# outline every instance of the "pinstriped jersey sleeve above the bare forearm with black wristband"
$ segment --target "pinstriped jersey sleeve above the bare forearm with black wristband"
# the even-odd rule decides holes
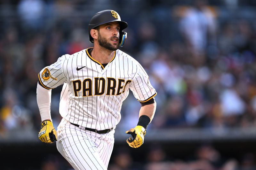
[[[130,89],[134,97],[142,103],[147,102],[157,94],[149,82],[148,74],[140,64],[138,64],[137,72],[132,78]]]

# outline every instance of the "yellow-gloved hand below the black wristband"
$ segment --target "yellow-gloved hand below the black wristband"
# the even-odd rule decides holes
[[[136,126],[130,130],[127,130],[125,133],[131,134],[132,137],[129,137],[126,142],[132,148],[140,147],[144,142],[144,136],[146,135],[146,130],[142,126]]]

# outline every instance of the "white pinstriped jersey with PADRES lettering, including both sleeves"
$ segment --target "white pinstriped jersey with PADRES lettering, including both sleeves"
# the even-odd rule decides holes
[[[40,71],[39,83],[46,89],[64,84],[60,115],[69,122],[92,129],[109,129],[121,119],[122,102],[129,88],[140,102],[152,99],[156,91],[146,71],[130,55],[116,50],[104,68],[88,49],[62,55],[56,63]]]

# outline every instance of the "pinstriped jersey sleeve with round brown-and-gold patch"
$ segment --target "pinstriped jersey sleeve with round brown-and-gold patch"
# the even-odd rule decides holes
[[[63,55],[58,58],[57,62],[50,66],[44,67],[38,74],[38,83],[46,89],[54,89],[67,81],[63,74],[62,65],[66,57]]]

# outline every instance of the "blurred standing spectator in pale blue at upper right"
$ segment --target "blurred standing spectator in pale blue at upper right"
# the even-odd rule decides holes
[[[180,31],[188,48],[196,54],[204,53],[207,46],[216,41],[216,20],[206,5],[205,0],[195,0],[194,6],[186,11],[180,21]]]

